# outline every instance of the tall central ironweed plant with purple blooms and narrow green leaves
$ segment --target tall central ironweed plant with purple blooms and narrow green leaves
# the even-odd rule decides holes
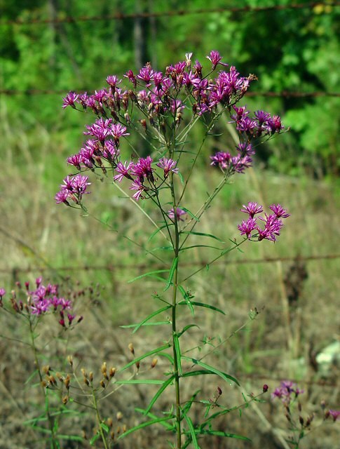
[[[84,135],[88,136],[88,140],[81,150],[67,159],[80,173],[67,176],[55,195],[57,203],[88,213],[84,199],[90,182],[88,175],[83,173],[97,173],[99,170],[102,175],[111,177],[119,192],[124,193],[126,189],[131,191],[130,196],[137,208],[147,215],[155,228],[149,236],[149,242],[157,234],[161,234],[163,238],[161,246],[156,246],[147,253],[157,257],[164,268],[139,276],[150,276],[163,283],[162,293],[154,295],[161,307],[136,325],[134,332],[155,317],[169,314],[169,337],[161,347],[135,358],[132,363],[140,363],[147,356],[157,355],[166,358],[170,369],[161,382],[140,380],[141,383],[154,382],[161,386],[151,398],[149,406],[142,410],[149,421],[128,429],[124,436],[136,429],[159,423],[175,434],[176,443],[172,445],[177,449],[189,445],[199,448],[200,436],[207,434],[243,438],[212,427],[216,417],[231,411],[219,406],[217,412],[211,413],[211,409],[217,407],[217,400],[222,394],[221,387],[218,387],[214,399],[208,403],[200,401],[207,408],[200,423],[193,422],[191,417],[191,407],[199,401],[198,391],[189,398],[183,397],[182,385],[189,377],[217,375],[223,382],[237,385],[238,380],[205,363],[203,357],[189,356],[188,348],[182,344],[184,335],[196,326],[191,322],[183,327],[178,326],[178,317],[183,307],[188,307],[192,316],[198,307],[224,314],[224,311],[212,304],[194,300],[186,282],[205,267],[182,274],[182,256],[196,248],[211,248],[217,255],[206,265],[208,268],[247,240],[275,242],[283,227],[283,220],[289,216],[280,204],[269,206],[271,213],[267,214],[264,213],[263,206],[250,201],[240,209],[247,215],[247,219],[238,226],[240,236],[243,236],[240,241],[235,239],[226,242],[224,236],[221,238],[198,230],[203,214],[212,206],[217,194],[230,178],[245,173],[252,165],[252,156],[258,143],[280,134],[284,127],[279,116],[271,116],[262,110],[251,113],[245,106],[238,107],[238,102],[247,93],[256,76],[241,76],[235,67],[227,68],[228,65],[222,62],[217,51],[211,51],[208,55],[210,67],[205,74],[200,62],[193,62],[191,58],[192,53],[186,53],[185,60],[166,67],[165,72],[154,70],[149,63],[137,74],[129,70],[124,76],[128,87],[123,87],[123,79],[110,75],[106,80],[107,88],[96,91],[93,95],[70,92],[63,99],[64,108],[90,111],[97,118],[93,124],[86,126]],[[213,192],[201,204],[198,203],[196,210],[189,210],[185,198],[186,191],[191,188],[193,171],[215,124],[219,120],[226,120],[226,115],[236,127],[238,145],[234,152],[217,152],[210,156],[210,165],[219,168],[221,180]],[[191,131],[198,121],[203,123],[205,133],[200,144],[193,145],[190,141]],[[142,157],[132,143],[132,156],[128,157],[121,151],[121,140],[128,140],[132,133],[139,133],[149,146],[147,156]],[[156,208],[156,220],[154,214],[151,216],[143,207],[145,201],[151,202]],[[200,243],[197,243],[197,237],[200,238]],[[166,253],[170,257],[166,257]],[[155,415],[153,408],[156,401],[171,387],[173,404],[161,415]],[[105,441],[103,429],[100,429],[100,436]],[[105,447],[108,447],[107,444],[104,443]]]

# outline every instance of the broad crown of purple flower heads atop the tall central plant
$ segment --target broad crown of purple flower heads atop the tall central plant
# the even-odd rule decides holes
[[[250,112],[245,107],[236,107],[256,77],[241,76],[235,67],[227,67],[218,51],[211,51],[207,56],[211,68],[205,76],[200,62],[191,61],[192,53],[186,53],[185,57],[185,60],[166,67],[164,72],[154,70],[150,63],[136,74],[129,70],[124,75],[131,84],[128,88],[123,87],[122,79],[109,75],[107,88],[92,95],[70,92],[63,98],[63,108],[70,106],[91,110],[97,116],[95,123],[86,126],[84,135],[88,136],[88,140],[77,154],[69,156],[67,162],[79,171],[100,168],[107,173],[108,169],[112,170],[115,181],[121,182],[123,177],[132,181],[130,189],[135,191],[133,197],[136,200],[147,198],[163,185],[170,172],[178,173],[177,161],[164,155],[155,161],[155,165],[163,169],[160,184],[156,185],[151,156],[140,158],[137,162],[121,160],[120,139],[130,135],[128,127],[140,123],[143,132],[149,133],[151,126],[156,129],[157,135],[167,140],[169,130],[182,123],[184,112],[191,114],[189,119],[192,114],[210,114],[217,119],[220,116],[220,108],[217,107],[222,106],[229,110],[233,107],[231,118],[240,133],[240,144],[236,147],[236,156],[218,152],[211,156],[211,164],[219,166],[228,175],[244,173],[252,165],[254,149],[251,140],[261,135],[280,133],[283,129],[280,117],[256,111],[250,118]],[[208,79],[217,67],[221,69],[215,78]],[[136,112],[142,114],[142,118],[135,118]],[[173,157],[173,154],[170,156]],[[85,192],[89,184],[87,181],[87,177],[81,175],[65,178],[55,200],[57,203],[69,204],[69,200],[80,203],[82,195],[88,193]]]

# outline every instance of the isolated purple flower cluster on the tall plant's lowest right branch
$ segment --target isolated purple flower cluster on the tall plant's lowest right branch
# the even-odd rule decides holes
[[[247,236],[247,239],[252,239],[257,237],[259,241],[267,239],[270,241],[276,241],[276,236],[280,235],[280,229],[283,227],[282,218],[287,218],[290,216],[280,204],[271,204],[269,209],[273,211],[272,214],[264,214],[264,217],[256,217],[255,215],[263,212],[263,207],[259,206],[257,203],[248,203],[247,206],[243,204],[243,208],[240,209],[241,212],[247,213],[249,215],[248,219],[238,225],[240,235]],[[257,224],[257,218],[264,222],[264,227],[261,228]],[[255,231],[256,234],[252,235]]]

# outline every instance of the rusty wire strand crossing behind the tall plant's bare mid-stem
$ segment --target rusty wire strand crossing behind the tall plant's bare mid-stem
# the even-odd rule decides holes
[[[243,259],[243,260],[224,260],[220,262],[215,262],[216,265],[229,264],[229,265],[239,265],[239,264],[263,264],[263,263],[273,263],[273,262],[311,262],[313,260],[335,260],[340,259],[340,254],[325,254],[325,255],[307,255],[307,256],[287,256],[287,257],[263,257],[261,259]],[[208,260],[201,260],[199,262],[182,262],[182,267],[205,267],[209,264]],[[87,272],[87,271],[98,271],[103,270],[107,272],[115,272],[117,270],[143,270],[152,267],[155,269],[159,267],[158,264],[100,264],[100,265],[81,265],[81,266],[64,266],[64,267],[12,267],[12,268],[0,268],[0,273],[31,273],[31,272]]]

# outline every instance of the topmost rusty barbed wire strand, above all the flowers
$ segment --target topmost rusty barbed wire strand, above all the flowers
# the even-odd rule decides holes
[[[141,12],[141,13],[115,13],[107,15],[93,15],[93,16],[79,16],[79,17],[61,17],[53,19],[10,19],[0,20],[0,25],[46,25],[50,23],[76,23],[76,22],[92,22],[103,20],[125,20],[125,19],[138,19],[138,18],[163,18],[163,17],[175,17],[184,15],[196,15],[196,14],[211,14],[211,13],[261,13],[266,11],[284,11],[284,10],[297,10],[297,9],[311,9],[318,7],[318,14],[329,13],[329,8],[340,6],[340,1],[332,1],[322,3],[320,1],[312,1],[308,4],[290,4],[290,5],[273,5],[273,6],[224,6],[220,8],[200,8],[193,11],[179,9],[177,11],[159,11],[159,12]],[[322,8],[322,9],[320,9]]]

